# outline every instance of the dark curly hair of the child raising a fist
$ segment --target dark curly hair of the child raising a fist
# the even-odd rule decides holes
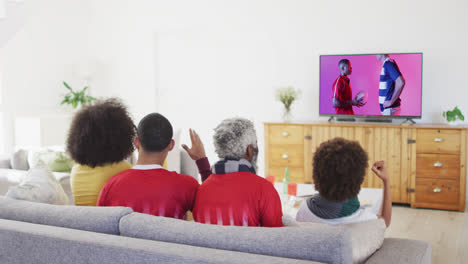
[[[329,200],[356,197],[368,167],[367,153],[357,141],[334,138],[323,142],[313,158],[315,189]]]

